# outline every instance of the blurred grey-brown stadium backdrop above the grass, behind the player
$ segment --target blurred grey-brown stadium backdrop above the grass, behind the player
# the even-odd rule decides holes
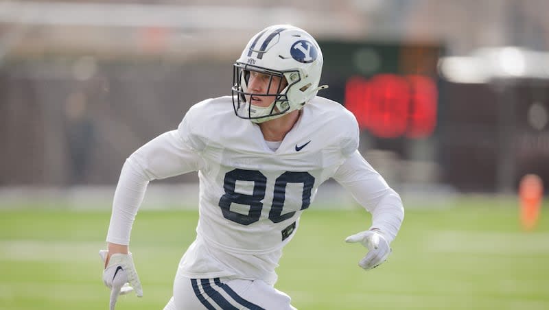
[[[275,23],[325,45],[325,95],[343,104],[351,78],[373,87],[383,75],[370,107],[381,115],[410,100],[386,93],[402,77],[434,83],[431,131],[364,126],[361,150],[397,189],[513,193],[527,173],[549,183],[548,1],[230,2],[1,2],[0,187],[114,190],[133,150],[230,94],[233,61]]]

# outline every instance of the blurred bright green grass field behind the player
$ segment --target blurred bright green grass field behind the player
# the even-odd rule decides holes
[[[405,201],[406,204],[406,201]],[[365,250],[343,242],[369,226],[360,208],[315,210],[284,250],[277,288],[298,309],[549,309],[549,211],[523,232],[515,200],[460,198],[443,209],[408,208],[393,254],[357,266]],[[102,263],[110,211],[0,211],[0,309],[107,309]],[[117,309],[163,309],[195,211],[139,213],[132,252],[144,296]]]

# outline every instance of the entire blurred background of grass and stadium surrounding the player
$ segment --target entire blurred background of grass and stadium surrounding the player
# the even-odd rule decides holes
[[[97,250],[124,160],[230,95],[244,45],[281,23],[317,38],[319,95],[355,114],[406,219],[390,261],[364,274],[364,249],[343,239],[368,215],[326,182],[277,288],[299,309],[549,309],[549,205],[517,195],[526,174],[549,183],[548,12],[546,0],[0,0],[0,309],[106,309]],[[145,297],[117,309],[170,298],[197,180],[150,184],[132,230]]]

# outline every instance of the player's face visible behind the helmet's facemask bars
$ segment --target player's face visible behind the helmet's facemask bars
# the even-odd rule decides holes
[[[274,102],[276,94],[280,93],[288,85],[285,78],[276,75],[268,75],[256,71],[250,71],[248,79],[248,92],[258,95],[272,94],[272,96],[246,95],[246,101],[254,106],[266,107]]]

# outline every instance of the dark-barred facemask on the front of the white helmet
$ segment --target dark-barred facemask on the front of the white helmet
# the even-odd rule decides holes
[[[233,108],[238,117],[250,119],[254,123],[263,123],[264,121],[276,119],[290,112],[291,106],[288,102],[287,92],[293,84],[299,82],[299,78],[296,78],[296,76],[299,76],[299,72],[273,71],[238,62],[234,64],[233,68]],[[265,93],[253,93],[248,90],[251,71],[269,77]],[[288,84],[287,82],[290,76],[294,79],[292,84]],[[275,80],[278,80],[278,82]],[[274,100],[268,106],[257,106],[253,104],[253,97],[274,97]]]

